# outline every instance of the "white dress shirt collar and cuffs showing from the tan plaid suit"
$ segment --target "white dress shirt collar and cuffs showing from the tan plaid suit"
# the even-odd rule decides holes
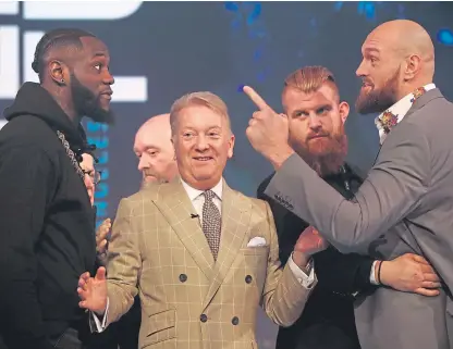
[[[203,223],[203,204],[205,203],[205,195],[204,195],[205,191],[191,187],[187,183],[185,183],[182,179],[181,179],[181,183],[185,191],[187,192],[187,196],[192,204],[194,205],[194,209],[197,212],[199,220],[200,220],[200,224],[201,224]],[[212,199],[212,202],[219,209],[220,215],[222,214],[222,189],[223,189],[223,178],[221,178],[220,182],[211,189],[216,194],[216,197]],[[220,248],[222,248],[221,245],[220,245]],[[293,255],[291,255],[291,258],[287,260],[287,263],[294,276],[296,277],[297,282],[299,282],[303,287],[310,288],[313,283],[315,282],[315,267],[311,267],[310,274],[307,276],[297,266],[297,264],[294,263]],[[94,327],[96,332],[101,333],[102,331],[106,329],[108,312],[109,312],[109,299],[107,299],[107,308],[106,308],[106,312],[103,314],[102,321],[100,321],[99,317],[95,313],[91,312],[93,316],[90,317],[94,321]]]

